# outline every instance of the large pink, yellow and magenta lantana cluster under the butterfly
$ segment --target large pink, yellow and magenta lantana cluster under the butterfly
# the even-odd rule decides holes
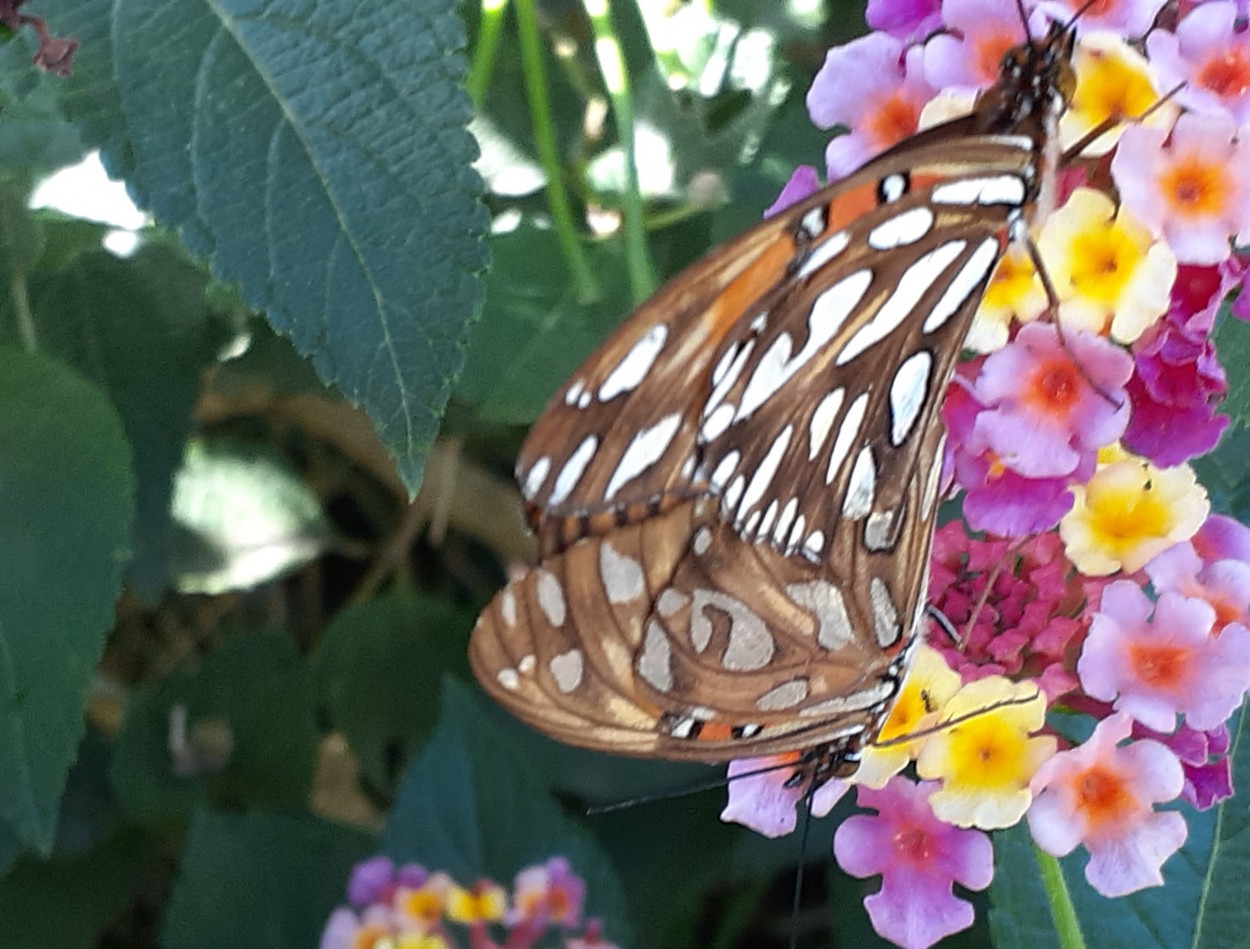
[[[1216,315],[1231,300],[1250,316],[1250,30],[1231,0],[1076,6],[1025,0],[1031,36],[1075,24],[1059,131],[1079,154],[1032,221],[1052,290],[1014,246],[948,390],[962,519],[936,534],[929,593],[950,628],[931,624],[856,774],[810,801],[825,813],[855,788],[866,813],[834,854],[881,876],[865,905],[902,946],[971,925],[952,884],[990,884],[988,831],[1025,820],[1055,856],[1081,846],[1089,884],[1119,896],[1162,884],[1185,841],[1182,811],[1160,805],[1232,793],[1250,529],[1211,514],[1188,461],[1228,425]],[[830,180],[971,108],[1024,34],[1008,0],[870,0],[868,20],[878,31],[830,51],[808,95],[818,126],[848,129]],[[798,170],[776,206],[818,178]],[[722,816],[791,830],[805,790],[789,776],[731,781]]]

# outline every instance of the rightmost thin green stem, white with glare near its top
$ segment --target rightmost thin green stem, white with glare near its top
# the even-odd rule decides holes
[[[638,151],[634,141],[634,95],[630,91],[629,73],[616,39],[608,0],[582,0],[590,28],[595,34],[595,58],[604,86],[612,100],[616,116],[616,134],[625,153],[625,265],[629,270],[634,303],[641,303],[655,291],[655,266],[646,244],[646,221],[642,193],[638,184]]]

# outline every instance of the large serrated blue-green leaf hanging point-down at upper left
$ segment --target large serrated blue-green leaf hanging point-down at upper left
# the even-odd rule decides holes
[[[485,268],[451,0],[49,0],[78,36],[64,108],[176,228],[364,405],[410,489]]]

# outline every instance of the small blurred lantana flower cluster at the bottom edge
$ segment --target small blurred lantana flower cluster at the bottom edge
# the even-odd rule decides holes
[[[374,856],[352,869],[349,905],[330,914],[320,949],[618,949],[599,920],[582,924],[585,893],[562,856],[518,873],[511,895],[492,880],[461,886]]]

